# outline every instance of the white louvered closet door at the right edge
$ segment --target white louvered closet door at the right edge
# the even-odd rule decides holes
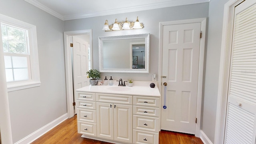
[[[226,144],[255,144],[256,139],[256,1],[235,8]]]

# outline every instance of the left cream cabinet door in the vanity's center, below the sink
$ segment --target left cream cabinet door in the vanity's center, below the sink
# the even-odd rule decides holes
[[[114,106],[110,103],[96,102],[97,136],[114,140]]]

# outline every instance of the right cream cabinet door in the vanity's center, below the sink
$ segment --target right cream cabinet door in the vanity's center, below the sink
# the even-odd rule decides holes
[[[114,104],[114,140],[132,143],[132,106]]]

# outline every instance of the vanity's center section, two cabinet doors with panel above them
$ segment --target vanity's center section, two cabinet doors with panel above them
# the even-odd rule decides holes
[[[96,94],[96,99],[97,136],[132,143],[132,96]]]

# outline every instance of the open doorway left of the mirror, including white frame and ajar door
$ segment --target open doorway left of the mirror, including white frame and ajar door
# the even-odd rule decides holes
[[[73,47],[72,47],[73,45]],[[86,46],[85,46],[86,45]],[[75,48],[78,47],[78,48]],[[75,89],[86,86],[86,80],[77,82],[77,80],[82,79],[79,76],[76,76],[76,72],[86,73],[92,66],[92,30],[78,30],[78,31],[69,31],[64,32],[64,49],[65,49],[65,67],[66,67],[66,94],[67,94],[67,110],[68,117],[71,118],[74,116],[75,107]],[[75,52],[73,53],[73,51]],[[84,50],[81,50],[84,49]],[[80,50],[77,53],[77,50]],[[82,54],[83,51],[86,51],[86,54]],[[74,57],[76,57],[74,59]],[[80,57],[77,59],[77,57]],[[84,61],[86,58],[86,61]],[[79,63],[78,63],[79,62]],[[82,66],[79,68],[74,68],[76,66]],[[78,72],[78,73],[80,73]],[[80,74],[85,75],[85,74]],[[85,85],[84,85],[85,84]]]

